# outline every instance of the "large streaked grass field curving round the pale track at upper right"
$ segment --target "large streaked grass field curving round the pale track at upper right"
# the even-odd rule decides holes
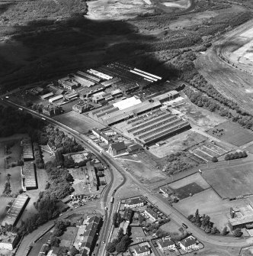
[[[226,41],[230,42],[233,37],[237,37],[238,34],[251,29],[252,26],[253,21],[251,20],[223,35],[219,41],[213,44],[212,48],[200,55],[195,61],[200,73],[223,96],[237,102],[242,109],[251,113],[253,109],[252,76],[221,60],[218,52]]]

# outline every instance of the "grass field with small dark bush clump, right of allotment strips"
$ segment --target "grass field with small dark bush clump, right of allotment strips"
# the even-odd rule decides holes
[[[223,129],[224,131],[222,134],[213,134],[213,131],[216,131],[217,129]],[[207,133],[222,141],[234,144],[235,146],[242,146],[253,141],[253,133],[250,130],[242,128],[233,122],[224,122],[223,124],[210,129]]]

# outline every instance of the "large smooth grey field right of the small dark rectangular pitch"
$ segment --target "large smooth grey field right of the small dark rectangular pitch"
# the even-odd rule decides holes
[[[203,170],[203,178],[223,199],[253,194],[251,162],[233,160],[231,165],[229,162],[220,164],[213,169]]]

